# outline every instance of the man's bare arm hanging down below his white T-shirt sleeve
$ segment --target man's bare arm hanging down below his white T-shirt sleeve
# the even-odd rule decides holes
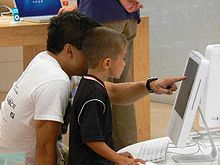
[[[56,165],[56,142],[60,134],[61,123],[35,120],[36,129],[36,165]]]

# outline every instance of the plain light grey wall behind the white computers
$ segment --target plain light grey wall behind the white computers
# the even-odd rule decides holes
[[[141,14],[150,18],[152,76],[179,76],[190,50],[204,54],[208,44],[220,44],[219,0],[142,2]],[[174,96],[152,95],[152,100],[173,103]]]

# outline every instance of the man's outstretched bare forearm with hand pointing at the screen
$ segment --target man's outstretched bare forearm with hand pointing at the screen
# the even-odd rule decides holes
[[[185,80],[186,77],[171,77],[152,81],[150,83],[151,89],[155,94],[168,94],[171,95],[176,91],[176,82]],[[146,81],[128,82],[114,84],[105,82],[109,98],[112,104],[116,105],[129,105],[142,97],[149,94],[146,89]]]

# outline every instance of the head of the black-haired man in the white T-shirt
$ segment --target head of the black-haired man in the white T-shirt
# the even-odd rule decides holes
[[[69,75],[83,75],[88,66],[81,52],[81,40],[88,30],[101,26],[92,18],[76,12],[53,17],[48,26],[47,50]],[[62,56],[57,56],[62,54]]]

